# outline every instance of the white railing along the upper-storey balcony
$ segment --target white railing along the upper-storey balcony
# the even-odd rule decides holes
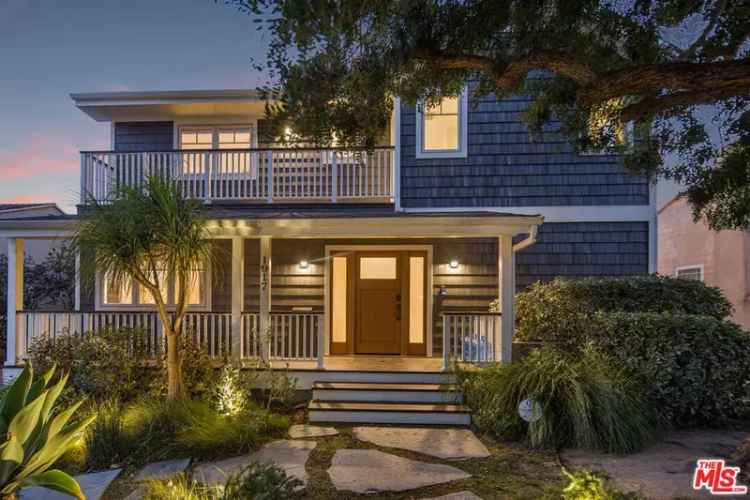
[[[394,148],[87,151],[81,203],[107,202],[151,175],[206,203],[392,203]]]

